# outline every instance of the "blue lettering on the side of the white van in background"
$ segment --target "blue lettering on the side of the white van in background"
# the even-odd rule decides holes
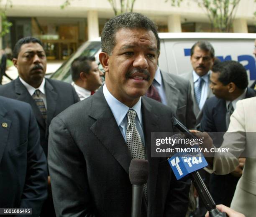
[[[190,56],[190,48],[184,48],[184,56]],[[220,61],[228,61],[232,60],[231,55],[228,56],[217,56]],[[250,73],[250,80],[256,80],[256,65],[255,65],[255,59],[253,56],[250,55],[241,55],[237,57],[237,61],[247,61],[248,63],[244,65],[244,68],[246,70],[249,70]]]

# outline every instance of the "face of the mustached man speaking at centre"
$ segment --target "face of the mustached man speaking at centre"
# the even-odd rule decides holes
[[[158,56],[156,37],[151,30],[118,30],[112,54],[100,54],[110,93],[125,105],[133,106],[151,85]]]

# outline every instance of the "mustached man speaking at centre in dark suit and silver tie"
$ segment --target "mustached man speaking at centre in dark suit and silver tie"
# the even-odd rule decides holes
[[[105,85],[50,126],[56,214],[131,216],[128,169],[140,158],[149,162],[141,216],[185,216],[189,185],[176,180],[166,158],[151,158],[151,131],[173,129],[172,110],[143,96],[157,68],[156,27],[144,15],[125,13],[105,24],[101,42]]]

